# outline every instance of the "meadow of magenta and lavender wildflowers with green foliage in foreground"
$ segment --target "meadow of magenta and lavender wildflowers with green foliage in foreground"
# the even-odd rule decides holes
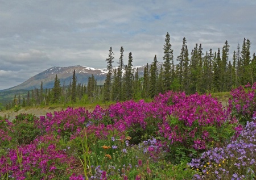
[[[0,179],[255,179],[255,89],[0,117]]]

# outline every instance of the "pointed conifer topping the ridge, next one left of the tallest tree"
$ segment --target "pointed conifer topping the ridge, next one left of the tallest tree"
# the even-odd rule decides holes
[[[154,61],[151,64],[150,68],[150,97],[153,98],[158,93],[158,67],[157,67],[157,58],[156,55],[154,57]]]

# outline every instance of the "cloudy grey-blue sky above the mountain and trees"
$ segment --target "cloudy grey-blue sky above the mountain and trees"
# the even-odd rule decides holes
[[[127,64],[163,62],[170,34],[174,60],[183,37],[189,52],[230,45],[229,60],[243,38],[256,52],[255,0],[0,0],[0,90],[19,85],[53,66],[114,66],[121,46]]]

